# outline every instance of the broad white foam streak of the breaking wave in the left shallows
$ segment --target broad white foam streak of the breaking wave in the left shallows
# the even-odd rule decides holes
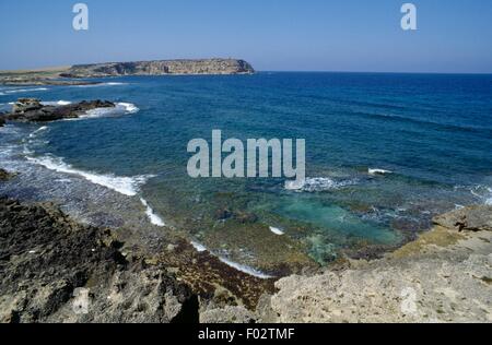
[[[31,163],[44,166],[47,169],[70,174],[83,177],[87,181],[95,185],[106,187],[120,194],[127,197],[134,197],[139,193],[140,187],[144,185],[153,176],[136,176],[136,177],[118,177],[114,175],[99,175],[94,172],[87,172],[83,170],[78,170],[71,165],[66,164],[63,159],[54,157],[50,155],[43,157],[26,157]]]

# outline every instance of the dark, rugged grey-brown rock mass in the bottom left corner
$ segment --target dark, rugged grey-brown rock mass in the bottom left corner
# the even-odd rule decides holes
[[[198,321],[196,296],[164,267],[51,204],[0,199],[0,322]]]

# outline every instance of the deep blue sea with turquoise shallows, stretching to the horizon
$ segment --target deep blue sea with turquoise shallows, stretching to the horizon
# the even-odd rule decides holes
[[[1,87],[3,109],[27,96],[119,105],[75,121],[0,129],[0,166],[50,169],[67,186],[84,179],[137,198],[155,226],[244,262],[270,237],[289,238],[319,263],[337,250],[391,248],[436,214],[492,203],[492,75],[262,72],[104,82]],[[187,144],[211,141],[214,129],[225,139],[305,139],[306,187],[191,179]],[[46,181],[49,188],[60,189]],[[218,217],[223,210],[249,218]]]

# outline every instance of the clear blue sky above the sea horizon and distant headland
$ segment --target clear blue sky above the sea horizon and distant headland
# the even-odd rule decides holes
[[[89,31],[72,8],[89,7]],[[418,9],[402,31],[401,5]],[[0,70],[241,58],[260,71],[492,73],[491,0],[0,0]]]

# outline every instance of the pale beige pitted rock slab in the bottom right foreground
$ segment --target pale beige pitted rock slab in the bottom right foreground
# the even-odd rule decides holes
[[[383,260],[290,276],[258,314],[267,322],[492,322],[492,207],[435,218]]]

